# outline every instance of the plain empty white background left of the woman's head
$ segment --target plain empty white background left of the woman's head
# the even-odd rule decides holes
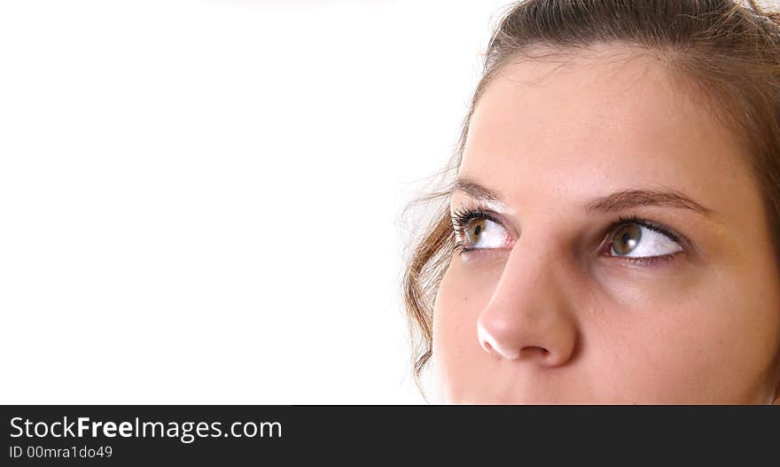
[[[0,6],[0,403],[417,403],[402,207],[498,1]]]

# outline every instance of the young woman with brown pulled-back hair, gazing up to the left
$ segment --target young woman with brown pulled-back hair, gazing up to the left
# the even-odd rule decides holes
[[[780,27],[512,6],[404,280],[456,403],[780,402]]]

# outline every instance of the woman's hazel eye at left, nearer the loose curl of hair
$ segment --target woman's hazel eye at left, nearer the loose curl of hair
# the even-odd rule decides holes
[[[501,222],[495,221],[481,209],[456,211],[452,214],[452,223],[457,240],[456,249],[464,252],[505,248],[509,243],[509,233]]]

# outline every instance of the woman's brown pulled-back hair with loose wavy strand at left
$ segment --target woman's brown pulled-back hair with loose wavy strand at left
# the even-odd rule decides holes
[[[596,43],[624,43],[659,58],[681,89],[705,97],[706,110],[734,132],[760,180],[769,225],[780,240],[778,23],[780,12],[765,12],[753,0],[746,5],[732,0],[527,0],[512,4],[487,45],[482,77],[456,151],[442,174],[451,175],[460,166],[474,108],[502,66],[540,57],[533,55],[535,46],[551,54],[566,54]],[[451,191],[450,183],[409,207],[448,199]],[[442,202],[425,227],[413,245],[402,281],[414,346],[414,376],[423,395],[420,375],[433,353],[435,297],[454,245],[448,205]]]

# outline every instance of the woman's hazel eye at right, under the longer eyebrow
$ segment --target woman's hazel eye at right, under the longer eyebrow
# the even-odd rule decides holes
[[[610,254],[623,258],[655,258],[683,251],[673,234],[641,222],[625,223],[612,235]]]

